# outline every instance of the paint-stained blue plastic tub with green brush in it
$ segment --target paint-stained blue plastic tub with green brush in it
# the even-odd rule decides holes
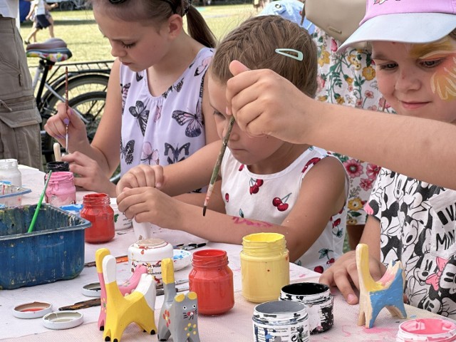
[[[84,268],[84,229],[90,222],[42,204],[0,209],[0,289],[73,279]]]

